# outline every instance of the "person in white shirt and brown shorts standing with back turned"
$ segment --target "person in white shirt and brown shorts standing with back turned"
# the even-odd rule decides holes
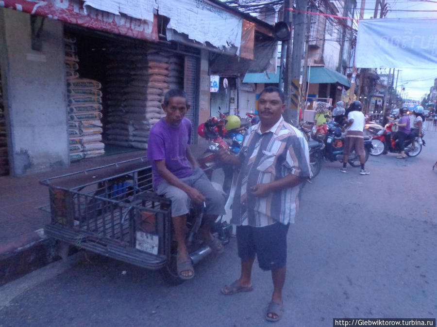
[[[366,118],[361,112],[362,105],[359,101],[353,101],[348,108],[348,123],[341,129],[343,132],[347,129],[346,138],[343,148],[343,167],[340,168],[341,172],[346,172],[346,165],[349,160],[349,154],[352,148],[355,148],[355,152],[360,156],[361,171],[360,175],[369,175],[370,172],[364,168],[366,163],[366,152],[364,151],[364,125],[366,124]]]

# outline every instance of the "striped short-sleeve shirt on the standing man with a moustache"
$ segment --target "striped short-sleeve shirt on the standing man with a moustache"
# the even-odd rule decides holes
[[[295,127],[280,120],[261,134],[260,124],[251,126],[240,150],[241,169],[232,204],[236,225],[263,227],[279,221],[294,222],[300,185],[275,190],[267,197],[254,197],[247,190],[288,174],[311,177],[308,144]]]

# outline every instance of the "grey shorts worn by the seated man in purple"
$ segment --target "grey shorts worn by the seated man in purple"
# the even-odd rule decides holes
[[[191,176],[181,178],[181,181],[190,187],[196,188],[206,198],[206,214],[224,215],[225,199],[221,191],[215,189],[205,173],[197,168]],[[157,188],[159,195],[164,195],[171,200],[171,216],[177,217],[189,212],[190,198],[180,188],[174,187],[163,180]]]

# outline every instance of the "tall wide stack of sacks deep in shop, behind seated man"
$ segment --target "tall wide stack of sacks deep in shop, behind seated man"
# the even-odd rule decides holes
[[[168,90],[183,86],[183,59],[168,52],[110,48],[106,70],[105,143],[147,149],[150,128],[165,116]]]

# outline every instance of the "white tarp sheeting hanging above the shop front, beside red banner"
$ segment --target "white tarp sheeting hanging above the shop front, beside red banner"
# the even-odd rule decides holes
[[[207,0],[85,0],[93,7],[115,15],[153,21],[153,9],[170,18],[167,28],[188,35],[200,43],[209,42],[220,49],[241,45],[242,18]]]

